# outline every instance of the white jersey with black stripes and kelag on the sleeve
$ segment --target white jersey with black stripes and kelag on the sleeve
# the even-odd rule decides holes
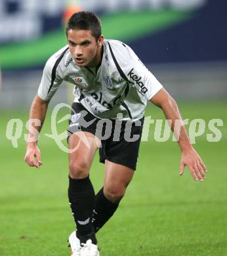
[[[77,66],[68,46],[53,54],[43,70],[39,97],[51,100],[62,81],[73,83],[74,101],[101,119],[142,118],[148,100],[162,88],[129,46],[106,39],[96,68]]]

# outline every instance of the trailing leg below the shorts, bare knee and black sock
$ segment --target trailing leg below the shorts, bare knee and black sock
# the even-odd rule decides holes
[[[133,178],[133,169],[105,161],[104,187],[96,194],[93,215],[94,230],[97,232],[116,211],[125,190]]]

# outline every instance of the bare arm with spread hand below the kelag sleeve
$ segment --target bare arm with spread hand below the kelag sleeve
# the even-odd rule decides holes
[[[166,119],[171,121],[171,130],[176,131],[175,123],[180,125],[178,144],[182,152],[180,160],[180,175],[184,173],[184,166],[188,166],[192,177],[197,181],[203,181],[205,179],[204,172],[207,172],[207,167],[201,160],[199,154],[194,150],[190,139],[188,137],[186,128],[180,116],[176,101],[162,88],[159,90],[150,101],[156,106],[159,106],[165,114]],[[178,120],[176,122],[176,120]]]

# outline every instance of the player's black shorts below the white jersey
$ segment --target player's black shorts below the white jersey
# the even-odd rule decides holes
[[[144,117],[137,121],[98,119],[78,102],[73,103],[72,109],[68,138],[77,131],[93,133],[102,143],[101,163],[109,160],[136,169]]]

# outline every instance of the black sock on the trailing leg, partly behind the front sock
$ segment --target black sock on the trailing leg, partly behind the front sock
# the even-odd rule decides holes
[[[112,217],[119,203],[112,203],[104,196],[103,187],[95,198],[95,208],[93,214],[94,231],[97,232]]]

